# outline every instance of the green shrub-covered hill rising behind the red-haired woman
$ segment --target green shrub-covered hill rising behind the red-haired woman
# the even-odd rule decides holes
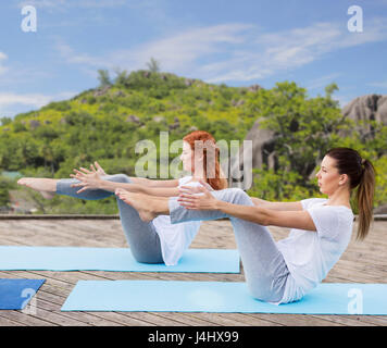
[[[171,141],[196,128],[216,139],[242,139],[254,121],[244,108],[251,94],[173,74],[133,72],[14,121],[3,119],[0,167],[45,169],[58,177],[74,165],[104,159],[108,170],[133,174],[136,142],[158,141],[161,130],[170,132]]]

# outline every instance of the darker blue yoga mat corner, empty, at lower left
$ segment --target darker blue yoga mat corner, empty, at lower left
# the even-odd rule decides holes
[[[0,279],[0,310],[24,309],[45,279]]]

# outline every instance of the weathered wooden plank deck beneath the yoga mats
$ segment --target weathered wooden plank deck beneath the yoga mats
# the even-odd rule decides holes
[[[355,224],[357,227],[357,224]],[[270,227],[275,239],[287,228]],[[117,219],[0,219],[0,245],[126,247]],[[192,248],[235,248],[229,221],[203,223]],[[387,326],[387,316],[179,312],[61,312],[78,279],[244,281],[244,274],[0,271],[2,278],[46,278],[36,308],[0,311],[0,326]],[[354,239],[324,282],[387,283],[387,221],[375,221],[363,243]]]

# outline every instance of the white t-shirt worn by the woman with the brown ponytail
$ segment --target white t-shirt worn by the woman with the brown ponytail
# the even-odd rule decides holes
[[[350,241],[352,210],[345,206],[326,206],[325,198],[301,200],[316,232],[292,228],[287,238],[277,241],[290,272],[279,303],[299,300],[320,284],[340,259]]]

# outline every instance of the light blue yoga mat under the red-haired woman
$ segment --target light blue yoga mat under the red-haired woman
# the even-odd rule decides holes
[[[188,249],[176,265],[139,263],[129,248],[0,246],[2,271],[117,271],[239,273],[234,249]]]

